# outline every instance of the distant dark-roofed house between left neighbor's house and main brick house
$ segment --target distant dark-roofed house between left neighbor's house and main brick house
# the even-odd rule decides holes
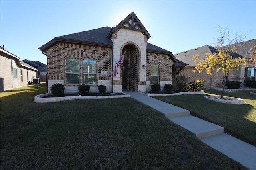
[[[32,61],[27,59],[22,61],[36,68],[38,70],[36,72],[36,78],[40,78],[41,82],[46,82],[47,65],[45,65],[44,63],[41,63],[40,61]]]

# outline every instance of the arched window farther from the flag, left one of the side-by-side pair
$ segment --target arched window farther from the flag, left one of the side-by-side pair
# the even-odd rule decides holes
[[[66,84],[79,84],[79,58],[65,59]]]

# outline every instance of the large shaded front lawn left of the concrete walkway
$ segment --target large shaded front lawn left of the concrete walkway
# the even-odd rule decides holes
[[[1,170],[246,169],[133,98],[34,103],[1,92]]]

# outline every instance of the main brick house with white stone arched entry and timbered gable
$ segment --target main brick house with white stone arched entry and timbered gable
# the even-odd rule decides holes
[[[55,37],[39,49],[47,56],[48,92],[52,84],[65,86],[65,93],[78,92],[90,84],[90,92],[106,85],[108,92],[150,92],[150,84],[172,84],[172,70],[184,67],[165,49],[147,43],[151,36],[132,12],[116,27]],[[124,53],[116,77],[113,68]]]

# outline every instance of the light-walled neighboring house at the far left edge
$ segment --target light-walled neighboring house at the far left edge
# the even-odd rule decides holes
[[[28,85],[36,76],[36,71],[36,68],[0,47],[0,91]]]

